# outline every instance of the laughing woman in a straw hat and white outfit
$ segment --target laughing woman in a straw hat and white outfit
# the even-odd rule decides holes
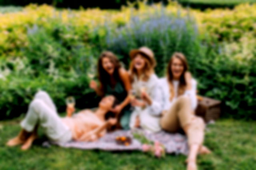
[[[149,132],[157,132],[161,130],[159,121],[162,107],[158,77],[154,73],[154,53],[148,47],[141,47],[130,51],[130,57],[130,100],[134,106],[130,128],[141,127]]]

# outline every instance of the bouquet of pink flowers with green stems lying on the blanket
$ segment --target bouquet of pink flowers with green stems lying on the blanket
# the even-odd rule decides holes
[[[158,141],[148,140],[142,133],[134,132],[134,138],[139,140],[142,143],[142,151],[147,152],[152,156],[156,156],[157,158],[165,157],[165,148],[164,145]]]

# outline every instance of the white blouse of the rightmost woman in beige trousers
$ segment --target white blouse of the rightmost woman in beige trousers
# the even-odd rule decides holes
[[[170,88],[169,83],[166,77],[159,79],[159,83],[162,89],[162,102],[163,102],[163,109],[162,110],[169,110],[172,104],[176,101],[178,97],[178,86],[179,81],[172,81],[174,87],[174,98],[170,101]],[[196,99],[196,80],[191,79],[191,86],[190,90],[186,90],[183,95],[186,95],[190,98],[191,101],[191,108],[193,110],[196,109],[197,106],[197,99]]]

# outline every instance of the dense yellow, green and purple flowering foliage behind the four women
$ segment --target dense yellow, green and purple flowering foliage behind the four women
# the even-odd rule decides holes
[[[142,45],[153,49],[159,76],[172,53],[183,52],[200,95],[221,100],[224,116],[256,119],[255,11],[255,4],[200,12],[140,3],[138,10],[30,5],[0,14],[1,119],[24,113],[38,89],[48,91],[60,111],[68,95],[80,109],[95,107],[86,73],[101,51],[114,51],[128,68],[129,51]]]

